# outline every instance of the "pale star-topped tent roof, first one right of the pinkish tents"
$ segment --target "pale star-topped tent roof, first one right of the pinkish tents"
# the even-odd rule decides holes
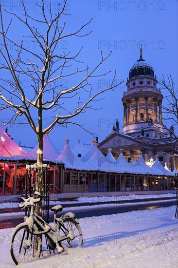
[[[69,140],[62,152],[55,158],[57,163],[63,163],[65,168],[75,169],[75,170],[95,170],[92,165],[88,163],[83,163],[77,156],[72,152]]]

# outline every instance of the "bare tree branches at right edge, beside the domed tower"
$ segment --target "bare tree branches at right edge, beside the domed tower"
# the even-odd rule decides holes
[[[163,130],[161,134],[172,144],[174,155],[178,156],[178,89],[175,88],[171,76],[167,76],[167,81],[163,76],[159,84],[160,89],[166,91],[165,94],[167,95],[165,96],[167,103],[162,105],[162,127],[159,127],[159,129]]]

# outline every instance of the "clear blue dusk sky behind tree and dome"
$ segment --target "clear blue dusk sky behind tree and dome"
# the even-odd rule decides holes
[[[28,6],[28,12],[31,16],[39,17],[38,9],[35,3],[40,4],[40,0],[25,1]],[[48,10],[50,1],[45,1],[46,10]],[[53,10],[55,10],[57,0],[52,1]],[[22,14],[22,7],[18,0],[1,0],[2,9]],[[114,72],[116,70],[115,83],[124,82],[119,85],[115,91],[108,91],[103,94],[99,102],[93,103],[93,108],[102,108],[99,110],[87,110],[84,114],[73,118],[77,124],[84,124],[84,127],[92,133],[98,135],[101,142],[107,134],[111,133],[113,124],[116,119],[119,120],[120,132],[123,127],[123,104],[121,98],[126,91],[125,82],[128,73],[133,64],[140,57],[140,46],[142,44],[142,57],[152,65],[158,80],[162,75],[167,77],[171,75],[178,85],[178,1],[176,0],[123,0],[123,1],[98,1],[98,0],[68,0],[66,13],[71,16],[64,16],[61,22],[66,22],[66,33],[72,33],[87,23],[91,18],[92,21],[83,30],[82,33],[92,31],[88,36],[83,38],[64,38],[58,44],[56,53],[61,54],[71,52],[76,54],[83,46],[78,59],[84,63],[75,63],[74,67],[82,68],[88,64],[90,69],[94,68],[101,60],[101,51],[106,57],[112,51],[110,57],[97,70],[96,74],[111,71],[107,77],[95,77],[90,79],[93,92],[105,89],[109,86]],[[10,21],[12,15],[3,12],[5,26]],[[39,28],[43,31],[43,28]],[[9,37],[17,42],[23,39],[27,48],[37,51],[34,43],[27,37],[28,31],[13,19],[9,29]],[[11,48],[12,54],[15,53],[15,47]],[[14,54],[13,54],[14,55]],[[2,59],[1,59],[2,61]],[[11,79],[7,72],[1,71],[1,76],[5,79]],[[84,74],[83,74],[84,76]],[[82,75],[81,75],[82,78]],[[66,78],[63,84],[66,88],[75,85],[75,77]],[[3,82],[4,83],[4,82]],[[24,87],[32,90],[29,81],[23,81]],[[160,87],[158,85],[158,87]],[[168,95],[162,91],[164,96]],[[81,93],[81,101],[86,99],[87,93]],[[67,108],[76,103],[76,98],[67,100]],[[166,100],[163,102],[166,105]],[[66,110],[68,111],[68,110]],[[46,124],[55,114],[45,114]],[[9,111],[2,111],[1,120],[10,118]],[[33,114],[37,118],[36,114]],[[18,122],[23,122],[24,118],[19,117]],[[1,123],[2,124],[2,123]],[[171,126],[171,122],[169,123]],[[33,130],[26,125],[7,125],[8,133],[14,138],[14,141],[21,145],[36,146],[37,137]],[[5,130],[5,127],[4,127]],[[85,132],[78,126],[69,124],[67,128],[55,126],[50,133],[50,139],[59,149],[63,149],[65,139],[69,138],[71,145],[74,146],[78,140],[80,142],[91,143],[93,136]]]

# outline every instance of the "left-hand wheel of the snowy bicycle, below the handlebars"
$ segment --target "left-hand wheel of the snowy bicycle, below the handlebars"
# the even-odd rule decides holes
[[[27,225],[21,226],[11,237],[10,251],[16,265],[30,262],[40,256],[41,238],[30,232]]]

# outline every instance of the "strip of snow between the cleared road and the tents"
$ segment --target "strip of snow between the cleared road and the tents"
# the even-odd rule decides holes
[[[74,201],[51,201],[51,205],[57,204],[77,204],[77,203],[92,203],[92,202],[111,202],[111,201],[126,201],[135,199],[146,199],[146,198],[160,198],[160,197],[175,197],[176,193],[164,193],[164,194],[129,194],[129,195],[118,195],[118,196],[94,196],[94,197],[79,197]],[[18,202],[1,202],[0,209],[7,208],[18,208]]]

